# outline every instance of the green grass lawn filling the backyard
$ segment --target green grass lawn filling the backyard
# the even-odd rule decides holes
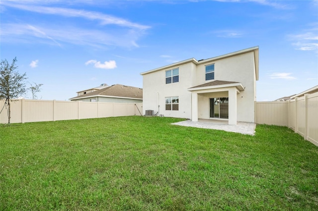
[[[318,210],[318,147],[167,117],[0,125],[0,210]]]

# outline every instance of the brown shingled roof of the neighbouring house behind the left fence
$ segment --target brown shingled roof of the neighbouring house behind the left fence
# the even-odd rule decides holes
[[[138,87],[125,86],[121,84],[112,85],[94,92],[89,92],[80,95],[70,100],[92,98],[92,97],[111,97],[111,98],[128,98],[128,99],[143,99],[143,89]]]

